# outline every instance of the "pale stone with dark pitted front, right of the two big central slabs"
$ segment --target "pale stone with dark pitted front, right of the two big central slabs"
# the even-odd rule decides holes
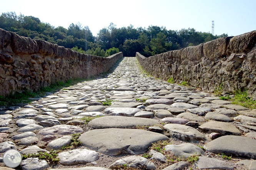
[[[190,126],[182,124],[166,124],[164,128],[174,138],[181,139],[183,141],[204,141],[206,138],[198,130]]]

